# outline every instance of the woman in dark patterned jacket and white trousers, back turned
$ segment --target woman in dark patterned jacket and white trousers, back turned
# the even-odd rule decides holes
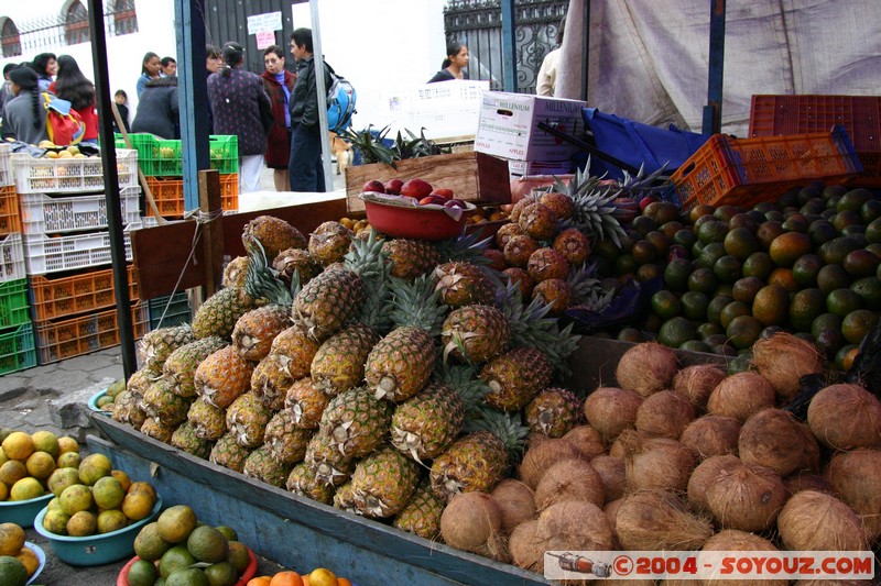
[[[244,48],[238,43],[224,45],[226,65],[208,77],[208,101],[214,112],[216,134],[239,137],[239,194],[260,190],[267,134],[261,109],[272,108],[260,76],[242,68]]]

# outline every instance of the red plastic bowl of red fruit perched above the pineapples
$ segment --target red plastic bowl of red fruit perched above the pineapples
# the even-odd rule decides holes
[[[445,240],[461,234],[468,215],[476,206],[467,208],[458,220],[450,218],[440,206],[395,206],[365,199],[367,221],[377,231],[401,239]]]

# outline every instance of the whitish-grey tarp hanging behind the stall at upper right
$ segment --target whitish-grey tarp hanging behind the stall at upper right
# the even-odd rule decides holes
[[[584,0],[570,0],[556,96],[579,98]],[[700,132],[708,0],[591,0],[588,103]],[[881,1],[728,0],[722,132],[746,136],[754,93],[881,93]]]

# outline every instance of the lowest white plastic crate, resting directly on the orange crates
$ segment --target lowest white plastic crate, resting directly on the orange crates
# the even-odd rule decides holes
[[[139,228],[140,224],[126,228],[123,239],[127,261],[132,258],[129,232]],[[58,270],[100,266],[110,262],[109,232],[55,237],[24,236],[24,263],[29,275],[45,275]]]

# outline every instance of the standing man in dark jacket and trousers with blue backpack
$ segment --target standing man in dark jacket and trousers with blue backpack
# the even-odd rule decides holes
[[[298,64],[296,84],[290,102],[291,191],[326,191],[311,29],[297,29],[291,34],[291,53]],[[325,69],[325,87],[329,88],[330,84],[330,74]]]

